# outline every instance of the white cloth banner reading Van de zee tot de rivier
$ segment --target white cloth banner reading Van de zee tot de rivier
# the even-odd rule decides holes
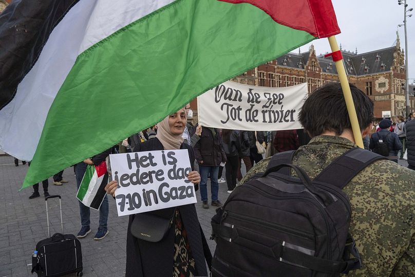
[[[224,82],[197,98],[199,125],[248,131],[303,128],[298,113],[307,83],[261,87]]]

